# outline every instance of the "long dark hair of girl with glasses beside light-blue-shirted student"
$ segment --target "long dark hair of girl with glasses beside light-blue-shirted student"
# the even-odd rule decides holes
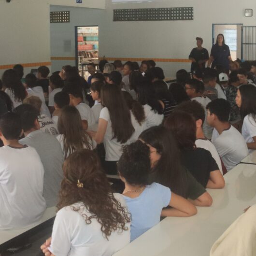
[[[187,198],[185,170],[180,162],[180,151],[170,131],[163,126],[144,130],[140,140],[156,148],[160,159],[150,173],[150,182],[157,182],[171,188],[174,193]]]

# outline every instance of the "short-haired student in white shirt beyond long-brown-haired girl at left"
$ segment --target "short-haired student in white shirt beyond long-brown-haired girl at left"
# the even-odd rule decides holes
[[[86,130],[88,126],[95,123],[95,119],[90,107],[83,102],[83,94],[81,87],[73,82],[67,82],[62,89],[70,96],[70,105],[77,108],[81,115],[83,128]]]

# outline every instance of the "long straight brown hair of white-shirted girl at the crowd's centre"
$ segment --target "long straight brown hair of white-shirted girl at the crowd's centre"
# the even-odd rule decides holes
[[[118,85],[106,84],[101,87],[102,106],[109,111],[113,129],[113,139],[125,143],[135,131],[131,123],[130,110]]]

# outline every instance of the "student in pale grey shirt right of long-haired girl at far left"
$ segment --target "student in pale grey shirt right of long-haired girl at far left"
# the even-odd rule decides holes
[[[34,74],[27,74],[25,77],[25,85],[27,86],[28,96],[37,96],[42,101],[40,114],[44,114],[51,117],[49,109],[45,104],[43,88],[36,84],[36,76]]]

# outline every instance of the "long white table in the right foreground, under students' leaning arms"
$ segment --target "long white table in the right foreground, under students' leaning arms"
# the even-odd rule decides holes
[[[224,178],[224,189],[207,189],[211,207],[198,207],[188,218],[165,218],[114,256],[209,256],[217,238],[256,203],[256,165],[239,164]]]

